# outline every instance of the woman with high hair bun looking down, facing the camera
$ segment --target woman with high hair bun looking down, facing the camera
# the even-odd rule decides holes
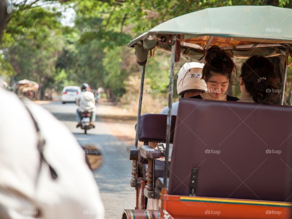
[[[208,91],[191,98],[237,101],[237,97],[228,96],[228,85],[234,81],[233,72],[235,64],[225,50],[218,46],[212,46],[206,51],[205,65],[202,71],[202,79],[207,83]]]

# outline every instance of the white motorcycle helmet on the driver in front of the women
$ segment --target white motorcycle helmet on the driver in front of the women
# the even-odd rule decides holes
[[[207,84],[202,78],[205,64],[200,62],[186,62],[177,74],[176,90],[178,95],[187,91],[207,92]]]

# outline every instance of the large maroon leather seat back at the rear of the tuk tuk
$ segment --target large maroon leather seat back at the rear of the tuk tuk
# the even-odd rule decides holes
[[[292,109],[180,99],[168,193],[287,201],[291,196]]]

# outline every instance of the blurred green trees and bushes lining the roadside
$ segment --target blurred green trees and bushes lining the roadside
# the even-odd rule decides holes
[[[92,89],[103,87],[110,101],[129,110],[137,107],[141,75],[134,50],[126,47],[134,37],[168,19],[209,7],[292,7],[290,0],[12,0],[11,4],[12,12],[0,47],[2,79],[10,85],[22,79],[38,82],[40,99],[48,89],[61,92],[66,85],[86,82]],[[72,11],[74,20],[64,23]],[[146,101],[142,110],[159,112],[167,105],[169,56],[156,50],[154,58],[148,58]],[[186,61],[190,60],[182,58],[175,72]],[[291,69],[287,75],[290,72]],[[291,85],[292,77],[289,76],[287,89],[291,89]],[[239,94],[236,86],[229,92],[235,96]],[[178,98],[176,88],[174,94]],[[290,97],[287,99],[291,103]]]

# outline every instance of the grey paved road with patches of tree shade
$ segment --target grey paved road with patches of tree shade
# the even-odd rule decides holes
[[[103,166],[94,172],[94,176],[106,210],[105,218],[121,218],[123,209],[134,209],[135,189],[130,187],[131,161],[128,159],[127,145],[111,135],[98,116],[103,106],[97,106],[96,128],[88,130],[87,135],[83,134],[84,130],[75,127],[77,106],[74,103],[52,102],[42,106],[61,120],[81,144],[93,143],[101,148]]]

